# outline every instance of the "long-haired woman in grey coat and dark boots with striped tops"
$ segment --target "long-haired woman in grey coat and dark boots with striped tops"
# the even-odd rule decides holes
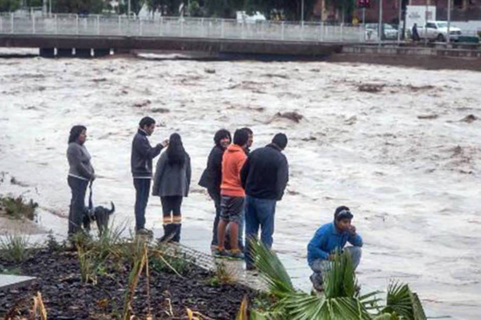
[[[180,205],[182,197],[189,193],[190,175],[189,154],[185,152],[180,135],[172,133],[167,150],[157,161],[152,187],[152,195],[159,195],[162,202],[164,235],[160,241],[180,240],[182,227]]]

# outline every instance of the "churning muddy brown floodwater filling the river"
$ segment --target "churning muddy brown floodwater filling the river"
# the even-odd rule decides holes
[[[348,205],[365,242],[363,286],[384,289],[397,278],[436,314],[475,319],[480,88],[479,72],[353,63],[0,59],[0,171],[20,183],[6,178],[0,193],[23,193],[65,217],[68,132],[81,123],[99,175],[95,203],[113,200],[116,221],[133,226],[131,139],[151,115],[152,143],[182,136],[192,161],[183,225],[208,238],[213,204],[197,181],[214,132],[249,126],[256,148],[282,131],[290,179],[277,205],[274,249],[304,265],[304,283],[308,241],[336,206]],[[41,215],[40,223],[67,228],[66,218]],[[160,201],[151,197],[147,227],[161,225]]]

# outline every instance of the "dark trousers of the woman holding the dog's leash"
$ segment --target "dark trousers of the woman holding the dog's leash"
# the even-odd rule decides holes
[[[69,175],[67,182],[72,190],[69,210],[69,234],[74,234],[82,229],[85,211],[85,192],[87,191],[89,181]]]

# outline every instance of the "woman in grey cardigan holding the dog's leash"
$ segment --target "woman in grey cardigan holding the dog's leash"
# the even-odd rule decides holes
[[[89,181],[95,179],[94,167],[90,163],[90,154],[85,147],[87,128],[83,125],[74,125],[70,129],[67,160],[69,161],[69,174],[67,181],[72,190],[69,210],[69,230],[72,235],[82,229],[85,209],[85,192]]]

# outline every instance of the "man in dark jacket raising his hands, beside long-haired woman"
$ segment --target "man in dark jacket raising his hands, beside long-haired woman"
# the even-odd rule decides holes
[[[137,234],[152,233],[145,228],[145,207],[149,200],[152,158],[159,155],[160,150],[169,143],[169,140],[164,140],[152,147],[147,136],[151,135],[154,129],[155,120],[145,116],[140,120],[139,129],[132,140],[130,165],[135,187],[135,232]]]

